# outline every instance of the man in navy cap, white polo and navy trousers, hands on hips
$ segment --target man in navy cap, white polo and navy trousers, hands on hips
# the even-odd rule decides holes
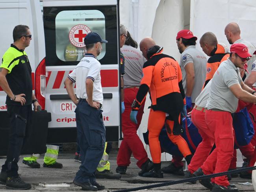
[[[82,164],[73,183],[82,190],[97,191],[105,188],[96,182],[95,171],[103,155],[106,131],[102,119],[103,94],[100,80],[100,62],[96,57],[102,50],[98,33],[88,33],[84,38],[87,53],[65,80],[72,102],[76,104],[76,127]],[[73,83],[76,82],[76,95]],[[78,98],[76,98],[76,96]]]

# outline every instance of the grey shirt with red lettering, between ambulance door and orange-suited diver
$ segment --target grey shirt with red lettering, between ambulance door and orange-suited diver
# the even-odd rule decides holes
[[[132,46],[124,45],[121,52],[125,58],[124,88],[139,87],[143,64],[147,60],[140,50]]]

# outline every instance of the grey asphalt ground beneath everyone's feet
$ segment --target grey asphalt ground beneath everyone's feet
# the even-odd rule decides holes
[[[115,172],[117,151],[113,150],[109,154],[109,161],[111,164],[111,170]],[[53,169],[43,167],[43,154],[39,157],[38,161],[41,164],[41,168],[33,169],[22,163],[22,157],[19,161],[19,174],[20,177],[28,183],[32,184],[30,192],[73,192],[81,190],[81,187],[72,184],[74,176],[80,166],[79,162],[74,159],[74,153],[72,152],[61,152],[57,162],[63,164],[62,169]],[[0,164],[4,164],[5,159],[0,159]],[[169,162],[162,162],[162,167],[167,166]],[[127,168],[126,174],[122,175],[121,179],[97,179],[98,183],[105,185],[105,189],[102,192],[111,192],[114,190],[128,189],[139,186],[152,185],[153,183],[161,183],[166,181],[174,181],[183,179],[182,176],[175,176],[171,174],[164,174],[164,178],[147,178],[140,177],[138,172],[140,169],[136,165],[136,159],[131,157],[131,164]],[[242,179],[240,177],[232,178],[230,183],[235,183],[237,188],[241,192],[253,192],[252,185],[241,185],[238,183],[252,183],[250,179]],[[39,184],[69,184],[69,187],[43,187]],[[24,192],[24,190],[7,190],[4,185],[0,185],[0,192]],[[177,185],[163,186],[160,188],[152,188],[143,190],[147,192],[208,192],[207,188],[197,184],[182,183]]]

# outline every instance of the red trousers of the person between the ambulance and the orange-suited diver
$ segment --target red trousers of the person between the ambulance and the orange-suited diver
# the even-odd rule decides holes
[[[143,115],[143,109],[145,102],[141,104],[139,112],[137,114],[136,125],[130,120],[130,113],[132,110],[132,102],[136,98],[138,88],[126,88],[124,89],[124,113],[122,113],[122,133],[123,140],[121,142],[118,154],[117,154],[117,165],[118,166],[129,166],[131,155],[137,159],[137,166],[141,168],[141,165],[148,160],[148,154],[145,151],[144,145],[137,135],[137,129],[141,124]]]

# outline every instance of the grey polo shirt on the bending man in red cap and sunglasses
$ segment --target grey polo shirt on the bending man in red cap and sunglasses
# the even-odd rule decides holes
[[[220,109],[234,113],[238,99],[229,89],[232,85],[241,84],[239,69],[229,60],[223,61],[213,75],[207,109]]]

